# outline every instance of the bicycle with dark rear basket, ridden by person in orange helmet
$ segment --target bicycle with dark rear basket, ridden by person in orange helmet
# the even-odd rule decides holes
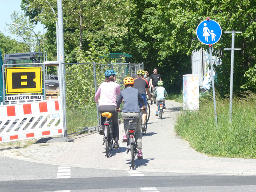
[[[127,128],[127,154],[131,152],[132,156],[132,168],[134,168],[134,158],[138,155],[137,150],[137,139],[135,130],[138,126],[138,118],[130,117],[130,118],[123,118],[124,128]],[[137,156],[138,158],[138,156]]]

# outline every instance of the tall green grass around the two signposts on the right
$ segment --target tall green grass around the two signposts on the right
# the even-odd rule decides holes
[[[200,97],[200,109],[184,111],[176,121],[175,131],[197,151],[211,156],[256,158],[256,95],[246,92],[234,96],[232,123],[229,99],[216,97],[216,127],[212,96]]]

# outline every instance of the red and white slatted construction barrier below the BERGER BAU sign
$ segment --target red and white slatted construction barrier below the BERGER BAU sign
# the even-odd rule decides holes
[[[60,100],[0,106],[0,142],[64,135]]]

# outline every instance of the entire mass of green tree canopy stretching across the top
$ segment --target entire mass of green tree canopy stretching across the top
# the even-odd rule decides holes
[[[229,91],[231,34],[236,34],[234,58],[234,91],[256,91],[255,29],[256,2],[254,0],[74,0],[63,1],[65,58],[76,62],[79,51],[86,56],[90,38],[96,52],[124,52],[133,55],[130,62],[144,62],[144,68],[158,72],[168,91],[180,91],[182,75],[191,73],[191,54],[202,45],[196,37],[196,27],[207,16],[222,27],[222,38],[213,49],[219,50],[221,66],[214,66],[218,74],[216,89]],[[33,22],[48,28],[46,48],[56,56],[56,0],[22,0],[22,8]],[[217,54],[214,53],[214,54]]]

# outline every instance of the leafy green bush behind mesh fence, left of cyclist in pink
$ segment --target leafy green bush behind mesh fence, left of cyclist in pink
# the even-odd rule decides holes
[[[104,57],[100,60],[100,56],[108,54],[108,50],[102,50],[102,54],[95,51],[95,46],[93,42],[90,44],[90,50],[84,53],[78,52],[78,62],[77,64],[70,64],[66,68],[66,100],[67,108],[81,108],[84,109],[86,106],[94,106],[94,69],[93,63],[97,62],[101,64],[106,64],[107,58]],[[86,55],[86,56],[85,56]],[[96,68],[97,81],[103,82],[104,75],[100,70],[100,66]]]

